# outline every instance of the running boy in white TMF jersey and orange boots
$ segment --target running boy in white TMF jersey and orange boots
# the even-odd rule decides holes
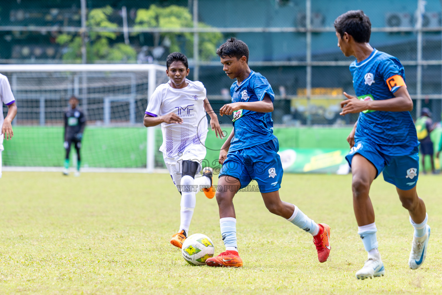
[[[203,188],[209,199],[215,195],[210,167],[203,169],[202,177],[195,178],[206,157],[206,112],[216,136],[222,138],[223,135],[217,115],[206,98],[206,88],[199,81],[186,79],[189,75],[187,57],[179,52],[171,53],[166,66],[170,81],[153,92],[145,112],[144,126],[161,124],[163,144],[160,151],[173,183],[181,193],[181,224],[170,242],[181,248],[189,231],[196,192]]]

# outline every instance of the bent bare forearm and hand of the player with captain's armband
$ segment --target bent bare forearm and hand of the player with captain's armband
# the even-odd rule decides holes
[[[348,100],[341,101],[342,112],[339,115],[347,115],[350,113],[359,113],[365,110],[371,111],[412,111],[413,101],[405,87],[400,87],[394,92],[393,98],[388,100],[359,100],[355,96],[351,96],[344,92],[344,96]]]

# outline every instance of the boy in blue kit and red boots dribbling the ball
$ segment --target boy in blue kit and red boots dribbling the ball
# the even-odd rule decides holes
[[[278,155],[278,138],[273,135],[273,90],[265,77],[248,67],[247,45],[230,38],[217,50],[223,70],[236,79],[230,88],[232,103],[220,109],[221,115],[233,115],[233,130],[220,151],[222,164],[216,192],[221,236],[226,251],[208,258],[209,266],[240,267],[243,261],[236,244],[236,216],[233,197],[239,189],[256,180],[267,209],[309,232],[320,262],[330,254],[330,226],[316,224],[293,204],[279,199],[282,165]]]

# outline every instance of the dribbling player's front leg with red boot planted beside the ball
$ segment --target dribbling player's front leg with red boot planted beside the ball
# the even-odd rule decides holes
[[[220,213],[221,235],[226,251],[206,260],[209,266],[241,267],[243,261],[236,245],[236,215],[233,197],[241,187],[240,181],[232,176],[223,175],[218,180],[216,198]]]

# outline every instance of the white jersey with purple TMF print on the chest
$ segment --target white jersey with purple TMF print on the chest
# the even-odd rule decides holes
[[[161,123],[163,144],[160,151],[166,157],[181,156],[191,145],[204,145],[207,134],[207,118],[204,110],[206,88],[200,81],[187,80],[184,88],[172,88],[170,81],[161,84],[153,92],[146,114],[153,117],[174,112],[183,119],[182,124]]]

